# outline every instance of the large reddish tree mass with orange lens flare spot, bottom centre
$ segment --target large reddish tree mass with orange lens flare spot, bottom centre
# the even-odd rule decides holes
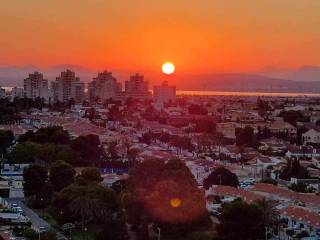
[[[204,193],[179,159],[137,163],[129,179],[130,188],[125,208],[128,222],[136,227],[139,237],[146,235],[150,221],[161,228],[164,239],[182,239],[192,231],[208,228]]]

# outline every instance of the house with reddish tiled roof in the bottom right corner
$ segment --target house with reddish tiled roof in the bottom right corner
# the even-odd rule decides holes
[[[293,236],[302,231],[308,232],[308,239],[320,238],[320,215],[298,206],[289,206],[280,210],[280,217],[287,221],[287,229],[292,230]],[[284,232],[286,234],[286,231]],[[287,239],[287,238],[285,238]]]

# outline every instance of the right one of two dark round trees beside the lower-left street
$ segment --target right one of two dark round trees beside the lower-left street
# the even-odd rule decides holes
[[[55,162],[50,168],[50,182],[54,191],[59,192],[74,182],[76,171],[63,161]]]

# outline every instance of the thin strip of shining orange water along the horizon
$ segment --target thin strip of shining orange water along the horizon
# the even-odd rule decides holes
[[[219,92],[219,91],[177,91],[187,96],[268,96],[268,97],[320,97],[320,93],[268,93],[268,92]]]

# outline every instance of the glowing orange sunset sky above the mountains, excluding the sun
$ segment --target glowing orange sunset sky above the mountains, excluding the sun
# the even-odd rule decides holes
[[[320,65],[319,0],[10,0],[0,66],[252,71]]]

